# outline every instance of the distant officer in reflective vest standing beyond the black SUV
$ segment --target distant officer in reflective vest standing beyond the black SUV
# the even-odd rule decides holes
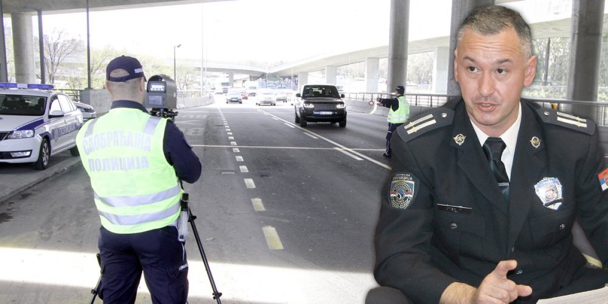
[[[389,122],[389,131],[386,134],[386,151],[382,154],[384,157],[390,157],[391,155],[390,137],[393,135],[393,131],[402,123],[406,122],[410,116],[410,105],[403,95],[405,92],[406,88],[397,86],[397,88],[395,88],[395,98],[376,98],[379,105],[389,108],[389,115],[386,119],[387,122]]]

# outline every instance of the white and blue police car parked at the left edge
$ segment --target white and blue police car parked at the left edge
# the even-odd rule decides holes
[[[31,162],[36,170],[44,170],[54,154],[70,150],[78,156],[82,112],[52,88],[0,83],[0,162]]]

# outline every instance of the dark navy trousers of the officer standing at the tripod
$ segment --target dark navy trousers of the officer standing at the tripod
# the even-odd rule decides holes
[[[188,297],[188,262],[176,227],[117,234],[100,228],[104,304],[134,303],[142,276],[152,303],[183,304]]]

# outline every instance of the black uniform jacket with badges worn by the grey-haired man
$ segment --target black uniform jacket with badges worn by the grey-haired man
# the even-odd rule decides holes
[[[508,204],[461,99],[399,126],[376,228],[380,285],[438,303],[451,283],[477,287],[499,261],[513,259],[508,278],[533,289],[516,302],[534,303],[585,263],[572,244],[575,218],[606,264],[608,191],[598,179],[605,167],[595,124],[520,105]]]

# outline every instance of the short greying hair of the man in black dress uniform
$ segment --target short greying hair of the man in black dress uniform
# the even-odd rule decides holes
[[[458,27],[458,42],[466,29],[482,35],[495,35],[506,29],[514,29],[526,58],[532,56],[532,31],[518,12],[500,5],[489,5],[475,9]]]

